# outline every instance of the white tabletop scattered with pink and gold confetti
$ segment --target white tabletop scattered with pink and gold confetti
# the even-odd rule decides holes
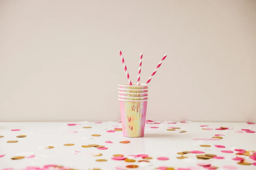
[[[61,126],[68,127],[68,129],[61,129],[61,124],[67,123],[81,123],[75,126]],[[239,165],[237,161],[232,160],[236,155],[234,153],[222,153],[221,150],[237,149],[256,150],[256,133],[235,133],[241,129],[252,129],[255,131],[255,124],[247,124],[246,122],[188,122],[176,124],[146,124],[145,136],[140,138],[127,138],[122,135],[122,131],[115,133],[108,133],[107,130],[113,130],[116,126],[121,127],[121,123],[110,121],[102,123],[94,122],[2,122],[0,123],[0,169],[12,167],[15,169],[26,168],[26,166],[40,166],[46,164],[58,164],[68,166],[76,169],[90,169],[100,168],[102,170],[114,170],[115,167],[125,167],[129,164],[139,165],[136,169],[155,169],[160,166],[168,166],[178,168],[186,167],[199,167],[198,162],[210,162],[213,166],[219,167],[218,169],[224,170],[223,165],[233,165],[239,170],[256,170],[255,165]],[[114,125],[114,126],[115,126]],[[214,130],[202,130],[200,125],[209,125]],[[84,126],[91,126],[92,128],[85,129]],[[159,128],[153,129],[152,126]],[[181,130],[187,131],[186,133],[175,133],[175,131],[167,131],[167,127],[174,126],[180,127]],[[232,127],[230,130],[215,130],[215,128]],[[208,127],[208,128],[209,128]],[[107,130],[100,130],[106,128]],[[11,129],[20,129],[20,131],[11,131]],[[68,131],[77,131],[77,133],[68,133]],[[92,134],[100,134],[99,137],[94,139],[82,139],[82,137],[92,137]],[[196,143],[193,138],[211,138],[215,134],[225,135],[227,138],[221,140],[204,141],[206,145],[211,145],[209,148],[202,148],[194,145]],[[24,138],[17,138],[17,135],[27,135]],[[10,140],[18,140],[17,143],[7,143]],[[129,140],[128,144],[121,144],[120,141]],[[113,143],[105,143],[105,141],[112,141]],[[74,146],[63,146],[63,144],[73,143]],[[107,147],[108,149],[99,150],[94,147],[82,148],[82,145],[98,144]],[[53,149],[38,149],[38,147],[48,145],[54,146]],[[224,145],[226,148],[216,148],[214,145]],[[216,154],[223,156],[225,159],[210,159],[198,160],[195,154],[192,158],[177,159],[177,152],[191,151],[198,149],[210,149],[206,153]],[[80,154],[74,154],[74,151],[81,151]],[[27,153],[30,152],[30,153]],[[102,156],[91,156],[88,153],[102,153]],[[153,159],[148,160],[150,163],[136,162],[128,163],[124,161],[111,160],[113,154],[135,155],[138,153],[148,154]],[[20,160],[11,160],[14,156],[25,156],[34,154],[33,158],[24,158]],[[168,157],[169,160],[157,160],[157,157]],[[107,162],[96,162],[96,159],[107,159]],[[251,159],[250,159],[251,160]],[[251,162],[253,162],[251,160]],[[125,168],[130,169],[130,168]]]

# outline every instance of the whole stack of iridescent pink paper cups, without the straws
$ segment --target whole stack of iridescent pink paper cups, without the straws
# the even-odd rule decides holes
[[[148,101],[148,85],[119,84],[123,136],[143,137]]]

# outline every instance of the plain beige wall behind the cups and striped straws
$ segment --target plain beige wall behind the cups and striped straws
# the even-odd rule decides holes
[[[118,51],[147,119],[256,121],[255,0],[0,0],[0,121],[119,120]]]

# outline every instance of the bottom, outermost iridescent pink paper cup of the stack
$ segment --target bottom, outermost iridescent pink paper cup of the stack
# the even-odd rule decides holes
[[[148,99],[136,101],[118,100],[120,104],[123,136],[143,137]]]

